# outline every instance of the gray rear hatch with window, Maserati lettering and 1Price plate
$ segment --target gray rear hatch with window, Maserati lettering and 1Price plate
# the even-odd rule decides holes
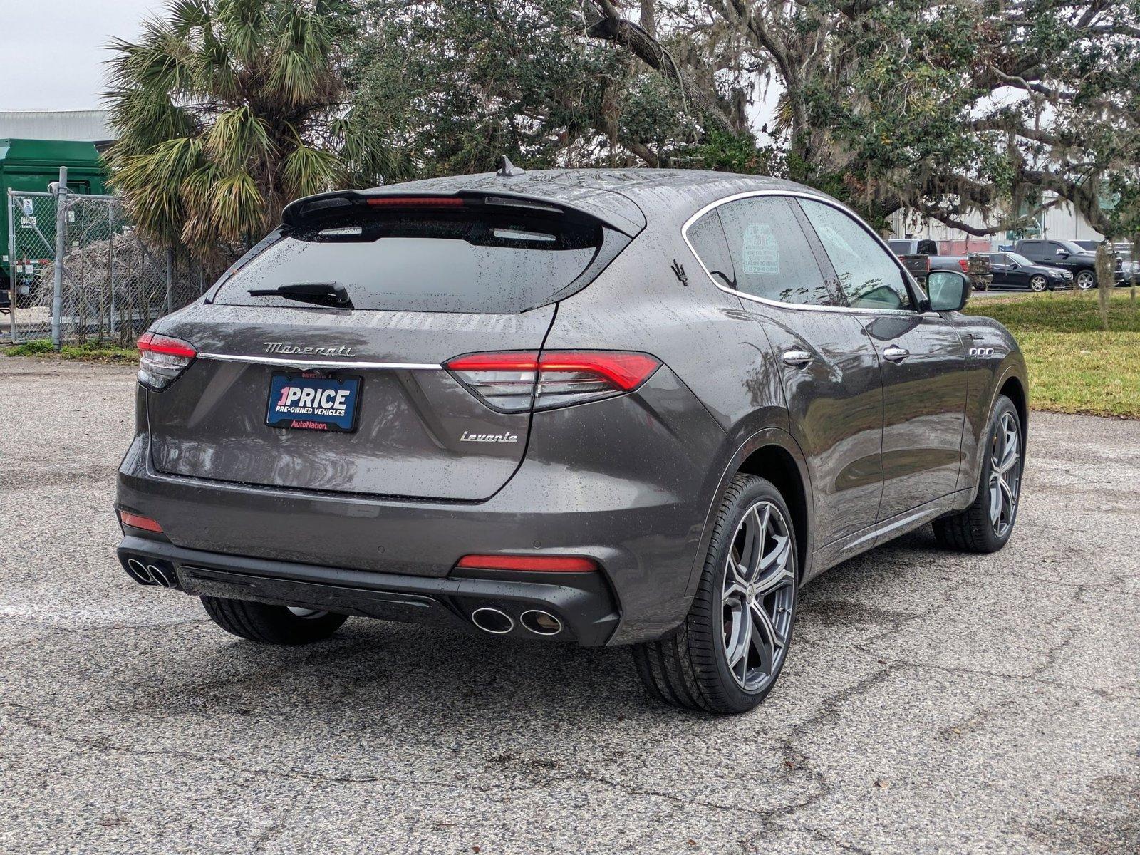
[[[522,461],[530,407],[490,406],[477,374],[445,364],[537,353],[556,301],[630,239],[579,210],[484,195],[332,194],[284,220],[155,331],[196,351],[146,396],[160,472],[486,499]]]

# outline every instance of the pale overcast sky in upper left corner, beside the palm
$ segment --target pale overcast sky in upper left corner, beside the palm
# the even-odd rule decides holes
[[[105,49],[132,39],[163,0],[10,0],[0,3],[0,111],[99,109]]]

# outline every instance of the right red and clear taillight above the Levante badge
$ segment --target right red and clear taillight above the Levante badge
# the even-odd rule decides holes
[[[648,353],[546,350],[469,353],[445,367],[488,406],[521,413],[632,392],[660,365]]]

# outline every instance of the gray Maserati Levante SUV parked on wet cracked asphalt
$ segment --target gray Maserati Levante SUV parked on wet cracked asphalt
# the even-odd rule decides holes
[[[964,276],[927,288],[751,176],[299,199],[139,340],[120,561],[256,642],[365,616],[628,644],[654,697],[750,709],[823,570],[928,522],[1010,537],[1021,353]]]

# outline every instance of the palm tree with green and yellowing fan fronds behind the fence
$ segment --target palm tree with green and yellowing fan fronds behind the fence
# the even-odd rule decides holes
[[[174,0],[115,40],[113,185],[148,238],[249,245],[292,198],[398,178],[407,160],[344,104],[343,0]]]

